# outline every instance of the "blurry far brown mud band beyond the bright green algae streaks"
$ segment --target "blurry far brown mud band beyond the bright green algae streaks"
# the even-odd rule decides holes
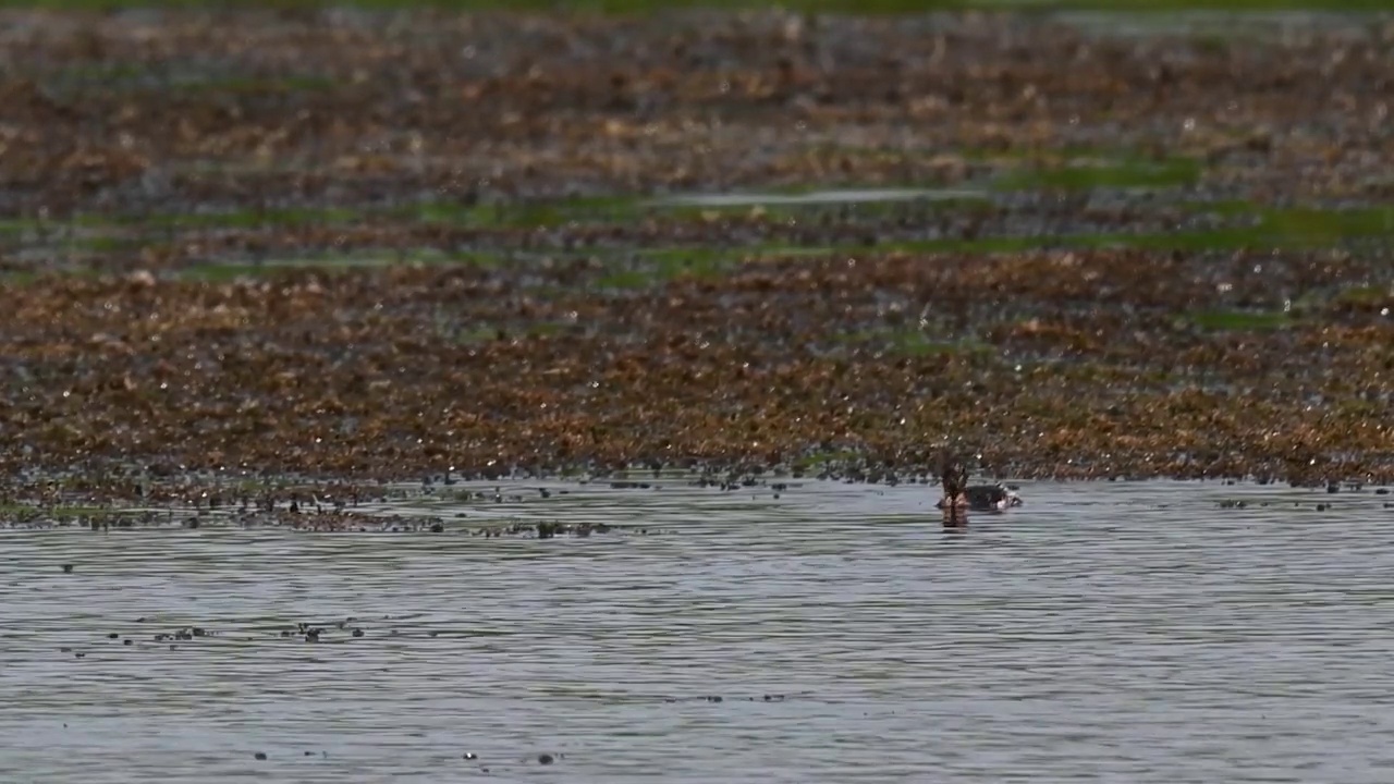
[[[1348,197],[1390,163],[1374,17],[1228,39],[1011,14],[6,17],[15,213],[953,183],[966,153],[1068,145]]]

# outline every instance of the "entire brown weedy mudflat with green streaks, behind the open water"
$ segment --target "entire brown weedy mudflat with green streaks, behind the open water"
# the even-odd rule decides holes
[[[7,519],[1394,477],[1390,18],[3,17]]]

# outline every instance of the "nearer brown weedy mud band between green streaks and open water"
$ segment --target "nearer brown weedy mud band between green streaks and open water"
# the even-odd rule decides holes
[[[1387,478],[1394,300],[1337,296],[1376,264],[859,254],[613,292],[584,265],[50,279],[0,315],[0,465],[127,491],[191,470],[903,478],[960,439],[1025,477]]]

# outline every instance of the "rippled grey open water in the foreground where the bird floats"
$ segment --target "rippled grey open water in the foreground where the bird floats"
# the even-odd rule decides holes
[[[1394,497],[569,487],[452,513],[675,533],[0,534],[0,778],[1394,780]]]

